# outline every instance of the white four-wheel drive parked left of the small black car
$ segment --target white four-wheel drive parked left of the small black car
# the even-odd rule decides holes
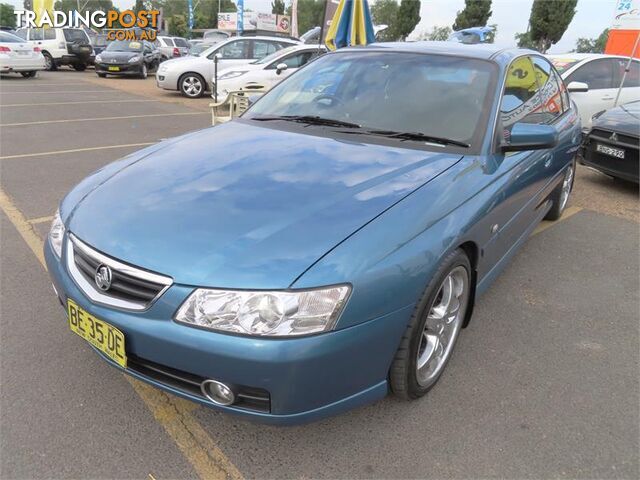
[[[19,28],[16,35],[40,48],[47,70],[70,65],[83,71],[93,63],[91,39],[81,28]]]

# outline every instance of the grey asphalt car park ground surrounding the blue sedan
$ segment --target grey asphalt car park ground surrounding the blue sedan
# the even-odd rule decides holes
[[[1,478],[640,476],[638,190],[584,168],[563,219],[478,301],[420,401],[272,427],[110,368],[51,290],[50,217],[93,170],[210,124],[207,99],[112,80],[0,80]]]

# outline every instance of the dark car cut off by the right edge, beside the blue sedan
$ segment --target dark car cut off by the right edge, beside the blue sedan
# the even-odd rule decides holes
[[[585,139],[582,162],[614,178],[640,183],[639,141],[640,102],[598,113]]]

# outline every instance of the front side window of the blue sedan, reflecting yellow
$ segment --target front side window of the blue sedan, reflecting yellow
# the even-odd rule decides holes
[[[538,82],[529,57],[516,58],[507,70],[500,117],[502,128],[511,130],[514,123],[544,123]],[[542,121],[541,121],[542,120]]]

